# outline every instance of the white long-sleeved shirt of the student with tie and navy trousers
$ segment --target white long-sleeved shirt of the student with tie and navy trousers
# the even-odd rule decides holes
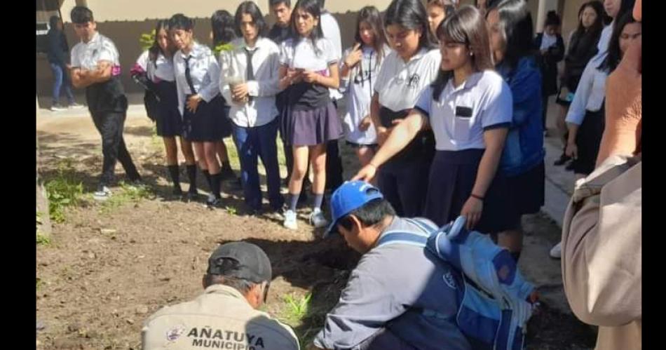
[[[259,38],[252,55],[252,70],[254,80],[247,81],[247,90],[252,101],[237,103],[231,98],[231,89],[227,80],[228,72],[240,74],[245,78],[247,74],[247,53],[245,53],[245,39],[239,38],[231,42],[236,48],[233,51],[222,52],[219,57],[220,71],[219,89],[224,99],[229,102],[231,110],[229,118],[237,126],[250,128],[270,123],[278,116],[276,95],[280,93],[278,82],[278,69],[280,68],[280,50],[276,43],[270,39]]]

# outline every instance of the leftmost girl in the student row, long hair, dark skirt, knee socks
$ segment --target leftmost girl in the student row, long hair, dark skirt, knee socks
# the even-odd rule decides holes
[[[164,141],[167,168],[173,184],[173,195],[180,197],[183,191],[180,187],[180,171],[178,169],[178,144],[176,137],[180,138],[180,150],[185,157],[187,175],[189,177],[188,199],[196,198],[196,162],[192,144],[182,136],[183,124],[178,112],[178,90],[173,74],[173,53],[176,48],[169,38],[168,20],[158,20],[155,27],[155,41],[153,45],[142,53],[135,66],[132,76],[144,76],[148,87],[158,97],[157,115],[155,116],[157,135]]]

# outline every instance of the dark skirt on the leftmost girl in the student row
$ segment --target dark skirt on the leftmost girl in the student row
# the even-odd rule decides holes
[[[178,92],[173,81],[155,83],[155,90],[160,98],[155,118],[157,135],[175,137],[183,133],[183,120],[178,112]]]

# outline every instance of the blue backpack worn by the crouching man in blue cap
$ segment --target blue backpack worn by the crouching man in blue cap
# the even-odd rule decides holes
[[[489,236],[465,229],[465,217],[442,228],[423,219],[406,219],[423,234],[391,231],[378,245],[401,243],[428,249],[463,276],[458,300],[458,328],[472,348],[522,350],[533,305],[528,297],[534,286],[526,282],[508,250]]]

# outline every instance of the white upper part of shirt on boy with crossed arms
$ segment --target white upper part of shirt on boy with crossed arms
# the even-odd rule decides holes
[[[111,74],[121,74],[120,55],[111,39],[95,32],[87,43],[80,41],[72,48],[72,67],[93,70],[100,62],[111,62]]]

